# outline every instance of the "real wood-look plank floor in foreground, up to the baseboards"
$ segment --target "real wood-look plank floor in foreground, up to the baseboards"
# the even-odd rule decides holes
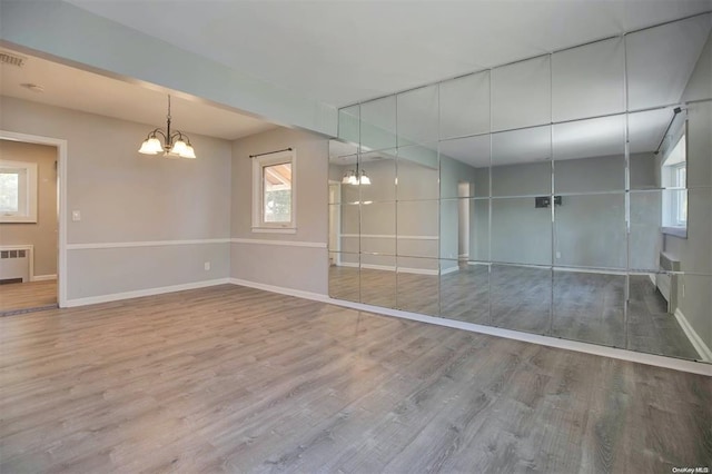
[[[237,286],[0,318],[0,472],[670,473],[712,379]]]

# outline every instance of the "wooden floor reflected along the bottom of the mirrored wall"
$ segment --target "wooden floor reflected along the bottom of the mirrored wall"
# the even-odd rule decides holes
[[[461,265],[442,276],[330,267],[329,295],[649,354],[700,356],[647,276]]]

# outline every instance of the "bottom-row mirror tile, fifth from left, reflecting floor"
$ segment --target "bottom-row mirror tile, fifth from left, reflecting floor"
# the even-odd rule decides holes
[[[525,333],[550,334],[551,267],[492,265],[490,278],[493,325]]]

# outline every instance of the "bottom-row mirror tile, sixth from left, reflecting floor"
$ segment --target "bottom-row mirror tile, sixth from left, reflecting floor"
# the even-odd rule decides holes
[[[554,270],[552,335],[625,347],[625,274]]]

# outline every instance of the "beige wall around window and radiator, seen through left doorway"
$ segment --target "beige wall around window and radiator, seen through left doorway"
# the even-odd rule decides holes
[[[0,140],[0,159],[38,165],[37,223],[0,224],[0,245],[32,245],[34,276],[57,275],[57,148]]]

